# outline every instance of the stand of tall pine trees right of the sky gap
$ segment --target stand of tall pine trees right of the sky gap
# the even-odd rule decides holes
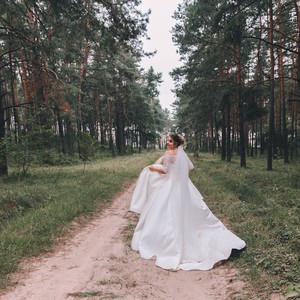
[[[300,4],[297,0],[187,0],[174,14],[183,62],[177,126],[223,160],[299,156]]]

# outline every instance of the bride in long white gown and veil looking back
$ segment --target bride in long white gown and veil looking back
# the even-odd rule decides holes
[[[164,269],[209,270],[246,244],[210,211],[189,179],[194,166],[183,142],[171,134],[169,150],[140,174],[130,205],[140,214],[131,247]]]

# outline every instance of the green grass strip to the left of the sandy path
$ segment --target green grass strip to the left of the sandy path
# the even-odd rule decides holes
[[[0,181],[0,287],[24,257],[50,251],[72,221],[87,221],[138,177],[159,153],[101,159],[82,165],[34,168]]]

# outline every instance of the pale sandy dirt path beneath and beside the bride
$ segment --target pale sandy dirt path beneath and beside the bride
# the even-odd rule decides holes
[[[52,254],[23,266],[1,300],[233,299],[243,289],[229,264],[210,271],[169,272],[141,259],[125,241],[137,216],[128,211],[134,185],[99,218]]]

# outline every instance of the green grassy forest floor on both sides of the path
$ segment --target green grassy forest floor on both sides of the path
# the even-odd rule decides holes
[[[11,283],[25,257],[53,249],[76,222],[94,213],[138,177],[160,152],[102,158],[87,165],[35,167],[20,177],[0,181],[0,287]],[[205,202],[226,226],[246,241],[229,264],[240,270],[260,299],[273,292],[299,298],[300,174],[299,163],[238,158],[228,163],[219,155],[190,155],[191,179]],[[294,295],[294,296],[293,296]],[[264,298],[266,297],[266,298]]]

